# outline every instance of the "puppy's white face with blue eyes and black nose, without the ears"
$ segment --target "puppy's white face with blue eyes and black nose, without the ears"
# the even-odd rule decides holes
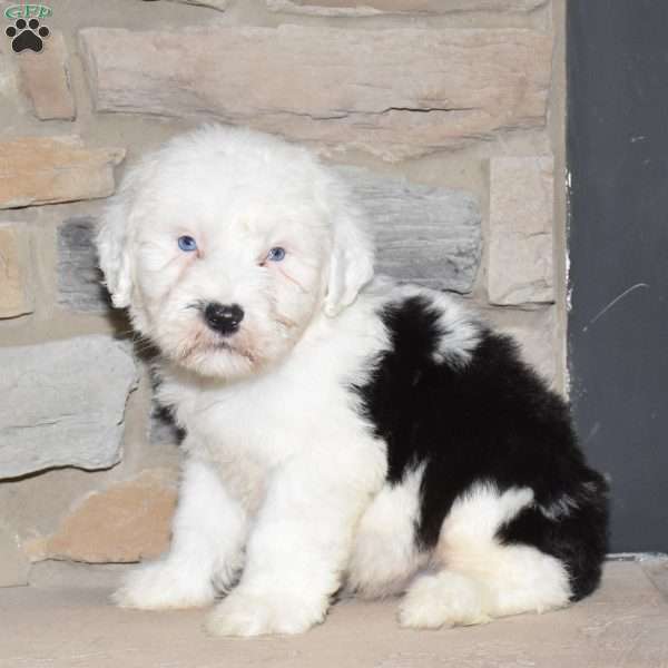
[[[144,212],[137,321],[184,366],[236,376],[282,357],[320,308],[330,238],[289,195],[212,180]]]

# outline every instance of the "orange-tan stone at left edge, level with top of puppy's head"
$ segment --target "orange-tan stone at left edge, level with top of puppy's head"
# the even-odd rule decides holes
[[[86,148],[75,136],[0,141],[0,208],[107,197],[124,157],[122,148]]]

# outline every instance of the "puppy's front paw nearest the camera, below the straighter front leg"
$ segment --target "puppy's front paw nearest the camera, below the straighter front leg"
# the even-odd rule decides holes
[[[303,633],[325,618],[326,605],[283,593],[233,591],[209,615],[206,628],[215,636]]]

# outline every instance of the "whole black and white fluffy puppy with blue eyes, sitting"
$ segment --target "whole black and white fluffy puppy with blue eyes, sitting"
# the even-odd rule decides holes
[[[598,584],[607,492],[564,402],[448,295],[372,278],[346,187],[245,129],[177,137],[99,230],[118,307],[186,432],[170,551],[120,606],[298,633],[340,590],[405,627],[566,606]]]

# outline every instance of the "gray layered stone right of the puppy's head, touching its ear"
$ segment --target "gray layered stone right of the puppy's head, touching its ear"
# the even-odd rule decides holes
[[[436,289],[470,292],[482,252],[477,199],[366,169],[338,169],[369,214],[376,272]]]

